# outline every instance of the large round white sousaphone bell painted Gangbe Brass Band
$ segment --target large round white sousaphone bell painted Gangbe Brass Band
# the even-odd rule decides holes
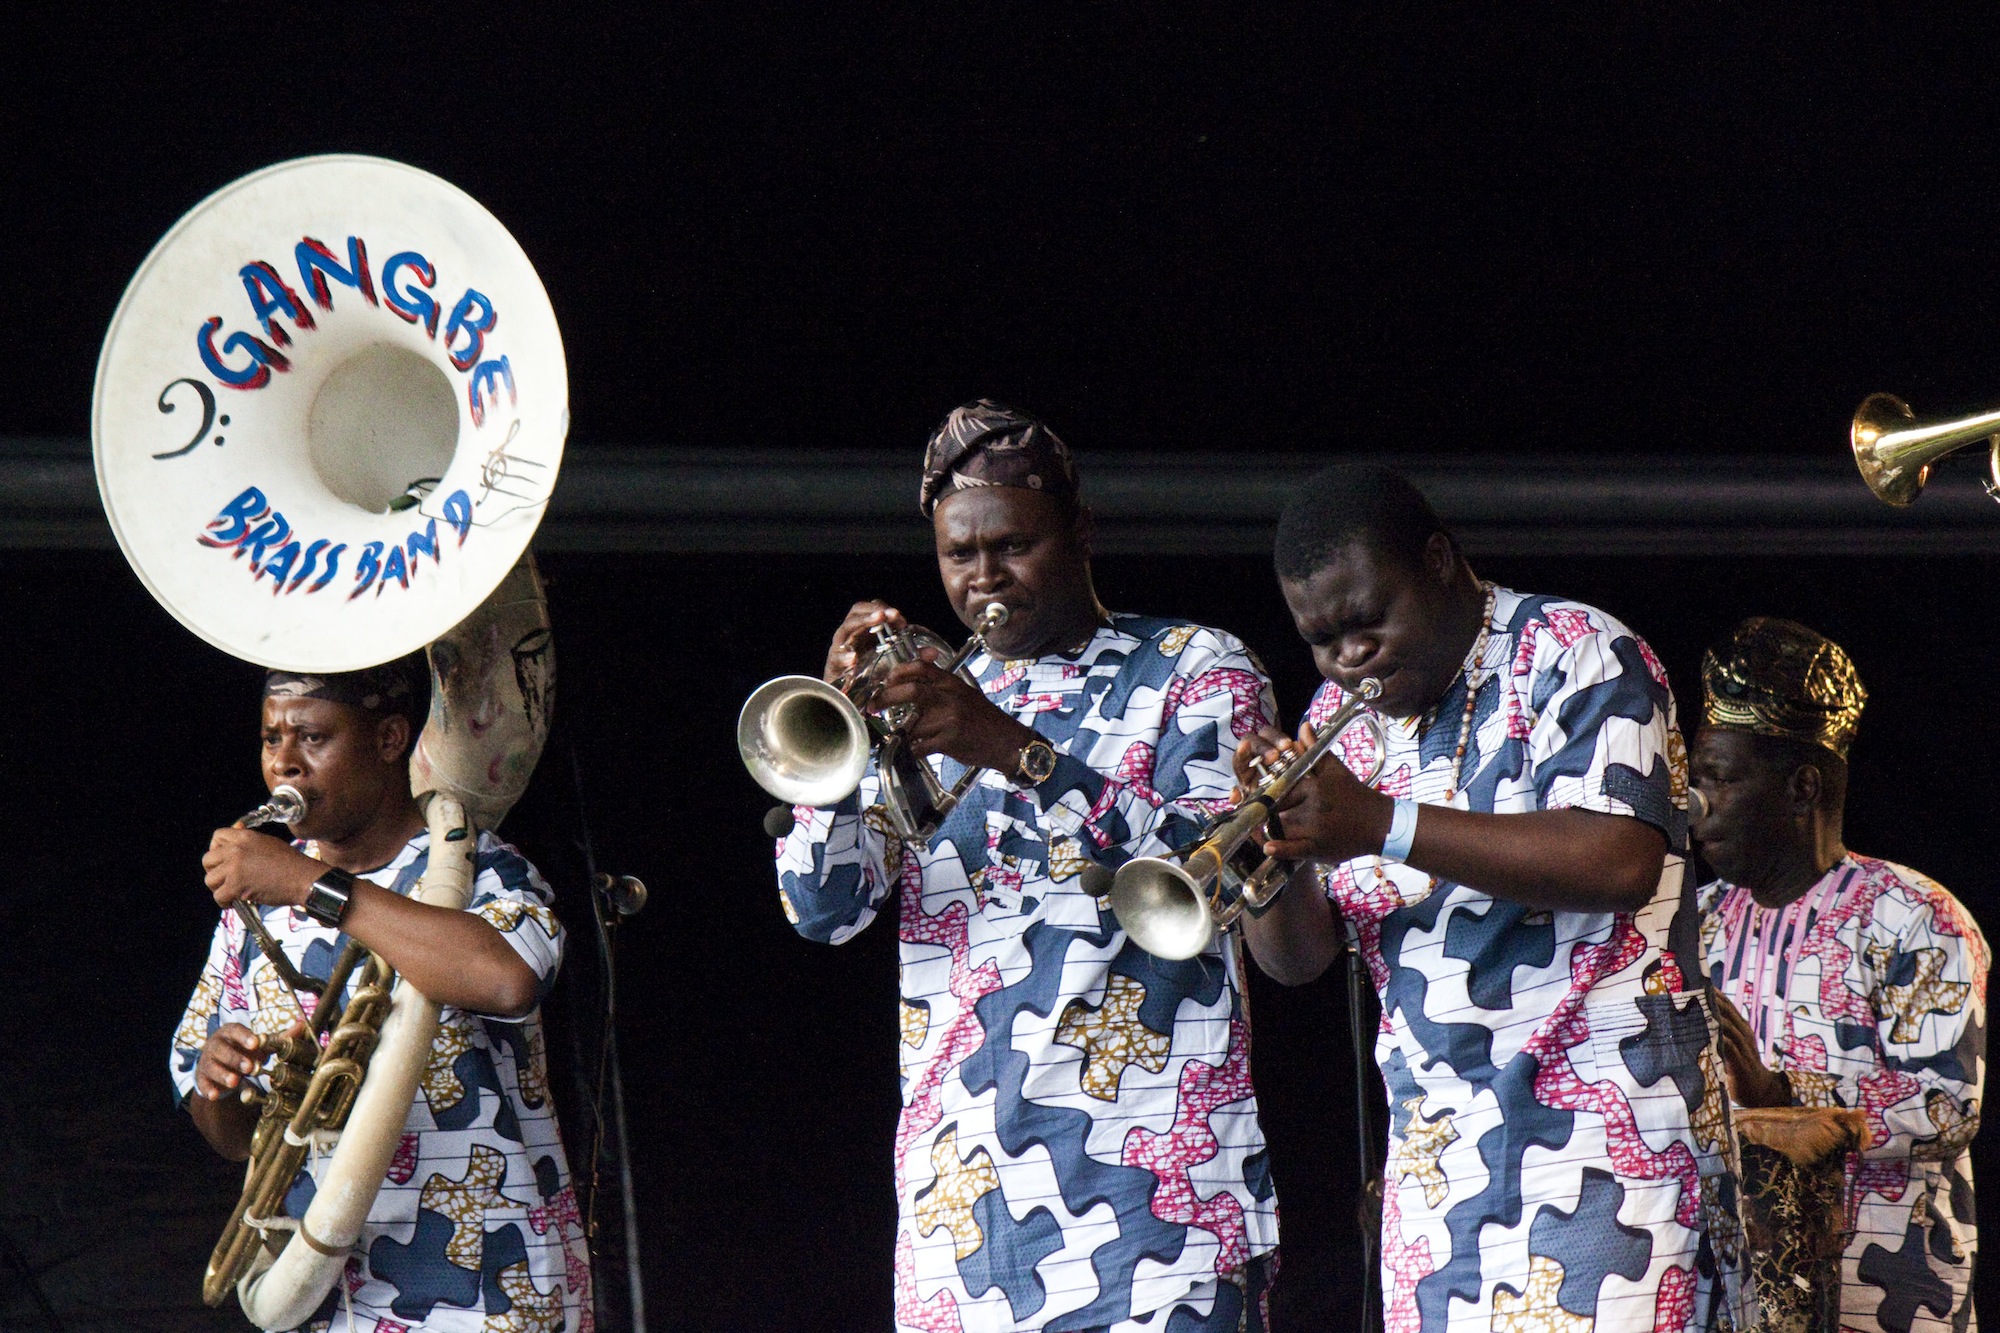
[[[224,652],[354,671],[458,624],[528,546],[568,434],[542,280],[472,196],[280,162],[154,246],[92,440],[118,544]]]

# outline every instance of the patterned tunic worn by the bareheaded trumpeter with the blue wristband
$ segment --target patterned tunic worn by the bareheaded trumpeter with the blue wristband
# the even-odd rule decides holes
[[[1446,801],[1464,675],[1432,715],[1382,719],[1380,791],[1494,815],[1600,811],[1684,845],[1674,697],[1630,628],[1496,588],[1470,675],[1460,791]],[[1308,719],[1344,699],[1324,685]],[[1352,729],[1340,749],[1362,769],[1372,747]],[[1676,995],[1666,953],[1680,857],[1636,913],[1528,909],[1378,857],[1324,879],[1382,997],[1388,1331],[1700,1327],[1696,1119],[1716,1163],[1724,1143],[1706,1007]]]

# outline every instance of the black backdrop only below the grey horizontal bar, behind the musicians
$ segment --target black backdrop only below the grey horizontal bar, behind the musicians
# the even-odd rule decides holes
[[[1798,616],[1848,644],[1874,695],[1850,843],[2000,919],[1988,851],[2000,711],[1986,669],[2000,626],[1974,614],[2000,560],[1480,564],[1624,616],[1684,703],[1704,640],[1742,614]],[[758,831],[768,801],[736,761],[732,725],[758,683],[816,666],[858,594],[956,632],[934,568],[858,556],[550,556],[544,568],[558,733],[582,755],[598,855],[652,887],[620,945],[650,1327],[886,1329],[892,921],[842,949],[792,935]],[[1288,717],[1308,697],[1312,666],[1264,560],[1118,556],[1098,560],[1098,580],[1110,606],[1248,638]],[[114,554],[10,554],[0,588],[16,636],[0,751],[14,877],[0,959],[16,983],[0,1051],[0,1261],[34,1271],[68,1329],[238,1329],[238,1313],[206,1313],[196,1297],[236,1171],[172,1109],[166,1047],[214,927],[202,845],[260,791],[258,675],[172,624]],[[582,927],[560,749],[506,833],[564,877]],[[562,983],[570,999],[590,975],[586,951],[576,929],[584,969]],[[1280,1327],[1340,1327],[1360,1253],[1344,987],[1338,975],[1298,991],[1258,981],[1252,1005],[1284,1209]],[[568,1013],[560,995],[554,1009]],[[552,1065],[574,1093],[564,1049]],[[2000,1213],[1992,1143],[1974,1145],[1982,1217]],[[18,1267],[0,1267],[0,1325],[46,1327]]]

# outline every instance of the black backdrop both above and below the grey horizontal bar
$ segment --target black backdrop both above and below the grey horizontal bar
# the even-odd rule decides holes
[[[1086,478],[1094,448],[1820,456],[1870,390],[1994,398],[2000,110],[1972,12],[14,18],[0,434],[86,434],[104,324],[186,208],[352,150],[446,176],[522,240],[562,318],[576,450],[898,446],[914,492],[934,420],[996,394],[1050,416]],[[544,568],[600,857],[654,887],[622,945],[652,1327],[884,1329],[892,933],[792,937],[728,733],[756,683],[820,660],[854,596],[944,628],[934,572],[840,552]],[[1994,917],[1994,560],[1480,570],[1624,616],[1682,701],[1740,614],[1842,640],[1874,693],[1850,841]],[[1286,711],[1304,703],[1262,560],[1098,576],[1112,606],[1242,634]],[[48,1327],[32,1275],[70,1329],[244,1327],[194,1307],[236,1173],[170,1107],[166,1043],[214,921],[196,859],[256,795],[256,671],[112,552],[0,552],[0,1325]],[[508,833],[574,863],[560,757]],[[1282,1327],[1344,1327],[1342,989],[1258,985],[1254,1007]],[[1996,1179],[1990,1137],[1974,1157]]]

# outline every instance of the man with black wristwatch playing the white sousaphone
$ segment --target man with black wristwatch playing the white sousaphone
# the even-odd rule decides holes
[[[410,795],[426,717],[422,654],[358,673],[266,677],[262,771],[304,797],[298,843],[216,831],[202,857],[218,907],[254,907],[288,963],[324,983],[348,941],[444,1005],[422,1089],[344,1281],[310,1327],[398,1333],[582,1329],[590,1265],[548,1097],[540,1009],[562,959],[548,885],[480,831],[464,911],[414,903],[430,833]],[[174,1087],[222,1157],[250,1155],[270,1091],[270,1043],[300,1035],[320,1001],[294,991],[234,911],[174,1035]],[[310,1039],[308,1039],[310,1041]],[[304,1173],[284,1201],[306,1215]]]

